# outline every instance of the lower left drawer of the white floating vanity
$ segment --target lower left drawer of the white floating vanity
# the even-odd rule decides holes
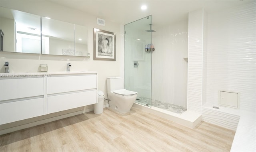
[[[44,115],[44,98],[0,104],[0,124]]]

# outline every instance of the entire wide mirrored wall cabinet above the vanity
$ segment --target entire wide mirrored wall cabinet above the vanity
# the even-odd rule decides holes
[[[71,56],[88,53],[85,26],[0,7],[0,30],[1,51]]]

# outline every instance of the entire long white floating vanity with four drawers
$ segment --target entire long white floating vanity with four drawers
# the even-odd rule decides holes
[[[97,72],[0,73],[0,124],[97,103],[97,79]]]

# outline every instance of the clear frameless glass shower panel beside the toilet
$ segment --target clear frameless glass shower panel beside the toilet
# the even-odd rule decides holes
[[[124,43],[124,87],[138,92],[135,103],[151,107],[152,16],[126,24]]]

